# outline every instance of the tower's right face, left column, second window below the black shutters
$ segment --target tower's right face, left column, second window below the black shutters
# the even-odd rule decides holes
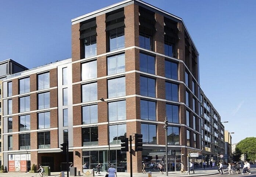
[[[140,76],[140,94],[148,97],[156,97],[155,79]]]

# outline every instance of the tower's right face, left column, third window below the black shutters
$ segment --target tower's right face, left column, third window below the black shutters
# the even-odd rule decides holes
[[[156,120],[156,102],[141,100],[140,118],[144,120]]]

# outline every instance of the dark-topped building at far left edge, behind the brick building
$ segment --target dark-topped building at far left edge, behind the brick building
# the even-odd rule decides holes
[[[8,60],[3,60],[3,61],[0,61],[0,165],[2,165],[2,156],[3,156],[3,153],[2,153],[2,125],[1,125],[1,120],[2,120],[2,97],[1,95],[2,94],[2,80],[5,79],[8,75],[11,75],[11,74],[14,74],[14,73],[17,73],[17,72],[21,72],[21,71],[25,71],[27,70],[28,68],[24,67],[23,65],[15,62],[14,60],[12,59],[8,59]]]

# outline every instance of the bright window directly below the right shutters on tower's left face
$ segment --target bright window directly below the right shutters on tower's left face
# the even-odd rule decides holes
[[[108,57],[108,75],[125,72],[125,54]]]

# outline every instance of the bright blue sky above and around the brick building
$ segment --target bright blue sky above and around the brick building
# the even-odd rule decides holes
[[[119,0],[0,0],[0,60],[28,68],[71,57],[71,19]],[[254,136],[256,1],[145,0],[183,19],[200,56],[200,84],[232,142]]]

